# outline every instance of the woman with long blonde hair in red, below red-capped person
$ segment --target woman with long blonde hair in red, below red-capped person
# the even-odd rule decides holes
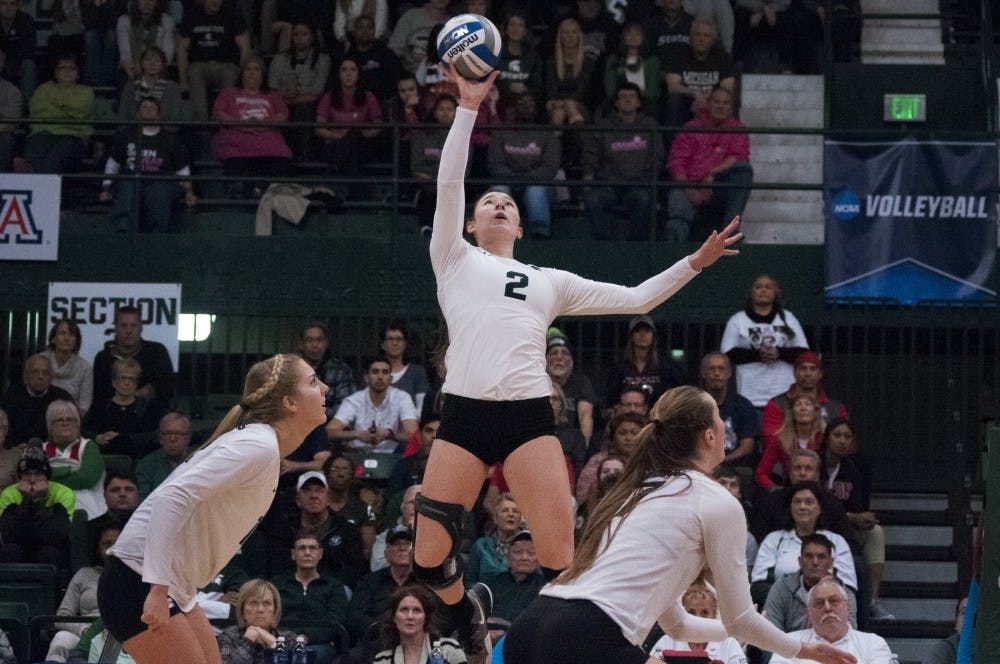
[[[819,450],[823,440],[823,415],[819,403],[808,394],[790,400],[790,414],[777,433],[764,436],[764,453],[754,477],[762,488],[771,491],[786,484],[791,454],[796,449]],[[775,467],[780,464],[780,474]]]

